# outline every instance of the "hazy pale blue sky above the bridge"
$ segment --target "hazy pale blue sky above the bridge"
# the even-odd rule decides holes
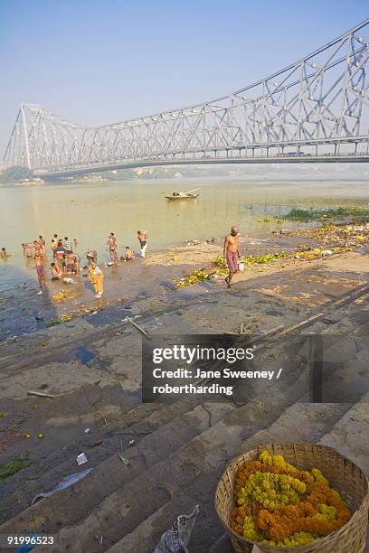
[[[368,12],[367,0],[0,0],[0,160],[22,101],[89,126],[180,108],[281,69]]]

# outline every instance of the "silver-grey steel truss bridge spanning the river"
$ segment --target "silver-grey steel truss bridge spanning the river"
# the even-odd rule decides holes
[[[48,177],[166,164],[368,163],[368,28],[369,18],[230,96],[104,127],[22,104],[5,165]]]

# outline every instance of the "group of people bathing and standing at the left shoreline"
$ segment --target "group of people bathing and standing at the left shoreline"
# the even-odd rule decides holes
[[[145,258],[147,250],[147,231],[137,231],[137,239],[140,245],[140,257]],[[51,264],[52,280],[60,280],[68,275],[78,275],[80,273],[80,256],[73,251],[77,248],[77,240],[71,241],[67,236],[64,239],[59,239],[57,234],[52,238],[52,257]],[[110,232],[107,245],[109,246],[110,263],[118,264],[118,245],[114,232]],[[25,258],[33,258],[37,271],[37,277],[40,286],[46,285],[46,275],[44,270],[44,257],[46,255],[46,242],[43,236],[39,236],[32,243],[23,243]],[[5,248],[2,249],[2,252]],[[6,251],[5,251],[6,253]],[[6,254],[8,255],[8,254]],[[3,257],[3,256],[2,256]],[[99,299],[104,293],[104,275],[97,265],[98,254],[96,250],[89,249],[86,254],[88,260],[88,274],[90,283],[95,290],[95,298]],[[135,257],[134,252],[129,246],[126,246],[125,253],[120,257],[120,261],[130,261]],[[65,280],[65,282],[68,282]]]

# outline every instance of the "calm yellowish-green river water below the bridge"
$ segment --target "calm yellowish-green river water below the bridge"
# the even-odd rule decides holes
[[[200,190],[196,201],[168,202],[166,193]],[[137,249],[137,230],[147,230],[149,249],[183,244],[190,239],[224,236],[237,224],[244,234],[270,230],[262,220],[292,207],[368,205],[365,182],[250,183],[165,180],[93,183],[48,183],[40,186],[0,186],[0,247],[14,253],[0,263],[0,292],[34,281],[33,262],[25,263],[22,242],[43,235],[50,256],[52,235],[78,240],[77,251],[98,251],[109,258],[109,232],[124,246]],[[279,225],[280,228],[280,225]]]

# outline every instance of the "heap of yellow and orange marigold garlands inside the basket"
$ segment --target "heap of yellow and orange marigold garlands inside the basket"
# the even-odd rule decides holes
[[[286,463],[264,450],[245,463],[234,486],[231,527],[250,541],[279,547],[302,545],[339,530],[351,513],[325,476]]]

